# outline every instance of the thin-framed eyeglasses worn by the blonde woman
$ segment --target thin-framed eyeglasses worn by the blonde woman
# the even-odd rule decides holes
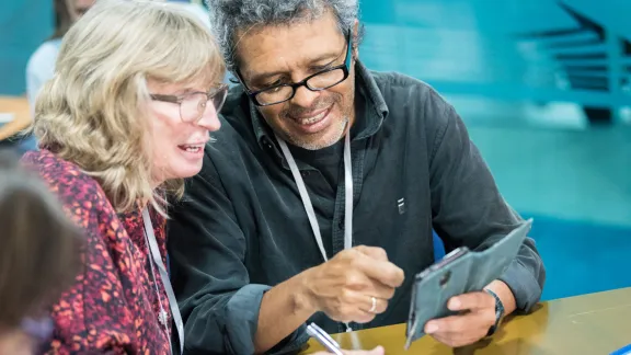
[[[211,102],[215,111],[219,113],[223,106],[223,102],[226,102],[227,95],[228,85],[221,84],[208,92],[192,92],[181,96],[151,94],[150,98],[154,101],[179,104],[180,118],[182,118],[182,122],[196,123],[204,116],[208,102]]]

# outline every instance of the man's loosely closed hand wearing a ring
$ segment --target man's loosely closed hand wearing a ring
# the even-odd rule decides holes
[[[367,323],[388,308],[403,271],[380,248],[356,247],[305,272],[308,302],[339,322]],[[375,298],[375,307],[372,307]]]

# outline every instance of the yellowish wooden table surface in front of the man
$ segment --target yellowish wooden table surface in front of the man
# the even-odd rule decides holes
[[[610,354],[631,343],[631,288],[542,302],[529,316],[506,320],[490,341],[449,348],[424,336],[405,352],[405,325],[375,328],[333,335],[344,348],[374,348],[386,354]],[[306,354],[323,350],[311,340]]]

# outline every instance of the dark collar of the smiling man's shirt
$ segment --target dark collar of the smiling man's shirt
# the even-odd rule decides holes
[[[375,78],[372,78],[372,73],[359,60],[355,61],[355,94],[362,95],[365,103],[364,110],[359,110],[358,113],[360,114],[355,118],[357,129],[353,129],[355,131],[353,140],[358,140],[375,135],[381,128],[389,111],[381,90],[377,85]],[[359,98],[355,100],[359,100]],[[282,157],[276,146],[274,131],[265,123],[256,105],[250,100],[249,104],[250,117],[252,118],[252,126],[259,145],[262,149],[265,149],[267,145],[273,145],[276,148],[276,152]]]

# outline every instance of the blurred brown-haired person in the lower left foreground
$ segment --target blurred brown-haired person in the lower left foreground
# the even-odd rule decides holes
[[[50,306],[72,285],[83,237],[13,152],[0,150],[0,354],[38,354]]]

